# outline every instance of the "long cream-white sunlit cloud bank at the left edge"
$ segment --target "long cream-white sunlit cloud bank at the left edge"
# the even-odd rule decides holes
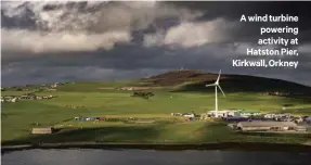
[[[129,42],[128,31],[104,34],[48,33],[24,29],[1,29],[3,52],[42,53],[66,51],[95,51],[100,48],[112,49],[115,43]]]

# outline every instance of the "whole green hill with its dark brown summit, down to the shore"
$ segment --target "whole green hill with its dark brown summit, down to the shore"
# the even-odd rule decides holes
[[[39,98],[2,102],[2,144],[66,142],[95,143],[203,143],[203,142],[277,142],[306,143],[304,136],[239,135],[223,122],[187,120],[171,113],[205,114],[215,109],[216,74],[176,71],[134,81],[79,81],[7,88],[2,96],[14,98],[31,92]],[[310,87],[284,80],[222,75],[220,84],[226,97],[219,98],[219,109],[256,110],[262,113],[311,115],[310,99],[275,97],[252,91],[295,91],[307,93]],[[124,87],[145,86],[153,97],[132,97]],[[159,87],[160,88],[150,88]],[[163,88],[164,87],[164,88]],[[269,88],[268,88],[269,87]],[[174,91],[174,92],[171,92]],[[187,92],[189,91],[189,92]],[[196,92],[194,92],[196,91]],[[230,92],[243,91],[243,92]],[[251,91],[251,92],[248,92]],[[38,98],[36,97],[36,98]],[[25,98],[25,97],[23,97]],[[29,99],[27,99],[29,98]],[[286,104],[286,109],[283,106]],[[104,120],[80,120],[77,117],[101,117]],[[134,118],[135,120],[132,120]],[[151,123],[144,123],[144,122]],[[31,135],[34,127],[53,127],[52,135]]]

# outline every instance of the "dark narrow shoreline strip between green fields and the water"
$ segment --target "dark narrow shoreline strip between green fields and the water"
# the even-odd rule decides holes
[[[101,149],[101,150],[159,150],[159,151],[183,151],[183,150],[234,150],[234,151],[265,151],[265,152],[307,152],[311,153],[310,144],[288,143],[256,143],[256,142],[222,142],[222,143],[42,143],[1,145],[1,154],[13,151],[34,149]]]

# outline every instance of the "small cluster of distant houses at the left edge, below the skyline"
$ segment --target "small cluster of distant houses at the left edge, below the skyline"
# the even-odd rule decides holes
[[[53,98],[55,98],[55,96],[36,96],[35,93],[27,93],[23,96],[4,96],[1,97],[1,102],[16,102],[18,100],[43,100]]]

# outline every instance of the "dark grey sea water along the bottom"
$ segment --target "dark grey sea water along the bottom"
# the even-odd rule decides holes
[[[311,153],[155,150],[24,150],[2,165],[311,165]]]

